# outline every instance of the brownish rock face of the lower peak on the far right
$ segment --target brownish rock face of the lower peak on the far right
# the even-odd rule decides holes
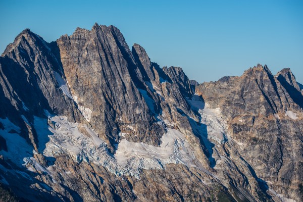
[[[196,92],[220,107],[239,153],[266,186],[299,200],[303,97],[289,69],[274,77],[258,65],[241,77],[200,84]]]

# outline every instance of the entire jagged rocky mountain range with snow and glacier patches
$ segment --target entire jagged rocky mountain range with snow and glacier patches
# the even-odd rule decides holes
[[[199,84],[130,49],[114,26],[51,43],[25,29],[0,57],[0,193],[301,201],[302,108],[290,69],[258,64]]]

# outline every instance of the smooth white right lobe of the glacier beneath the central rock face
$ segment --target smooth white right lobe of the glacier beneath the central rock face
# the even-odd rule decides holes
[[[123,139],[114,157],[117,163],[132,175],[138,175],[139,169],[163,169],[169,163],[194,166],[193,151],[189,149],[189,143],[181,132],[168,128],[161,140],[160,147],[156,147]]]

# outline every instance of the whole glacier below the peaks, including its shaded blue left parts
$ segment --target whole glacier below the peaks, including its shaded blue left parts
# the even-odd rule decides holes
[[[77,163],[90,162],[106,167],[113,174],[133,175],[137,178],[140,177],[141,169],[165,169],[166,164],[170,163],[196,166],[193,163],[194,152],[178,130],[168,128],[161,138],[160,147],[123,139],[117,145],[116,154],[112,155],[106,142],[86,125],[69,122],[67,117],[52,116],[47,111],[45,114],[48,115],[48,120],[34,117],[39,140],[38,150],[45,157],[56,158],[67,154]],[[9,152],[1,150],[0,154],[20,166],[26,166],[29,171],[44,172],[52,176],[52,170],[41,166],[33,157],[33,147],[25,139],[18,134],[8,133],[11,128],[16,131],[20,129],[8,119],[1,122],[6,128],[5,131],[1,130],[1,135],[7,140]],[[128,127],[133,130],[131,126]],[[125,133],[120,132],[119,135],[123,137]]]

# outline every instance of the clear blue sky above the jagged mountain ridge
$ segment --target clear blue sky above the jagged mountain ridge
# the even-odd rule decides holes
[[[261,63],[273,74],[289,67],[303,83],[303,1],[0,0],[0,52],[25,28],[51,42],[95,22],[198,82]]]

